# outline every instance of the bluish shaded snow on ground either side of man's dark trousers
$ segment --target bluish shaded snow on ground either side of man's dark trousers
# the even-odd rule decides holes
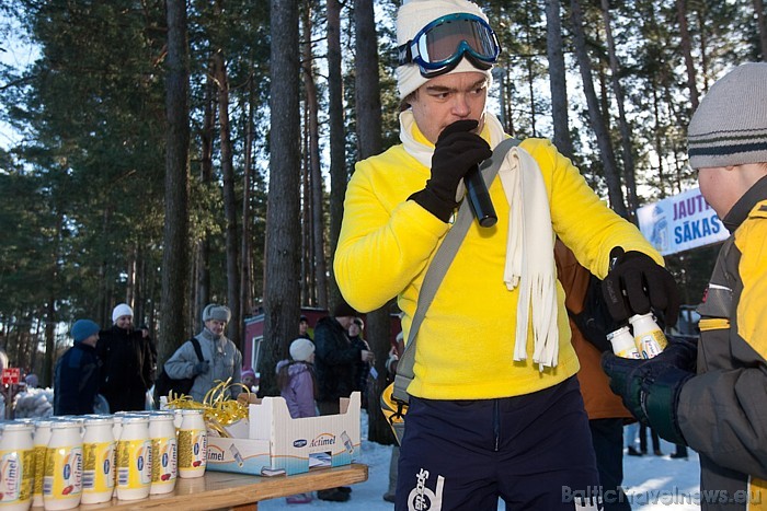
[[[363,437],[367,432],[367,415],[363,410]],[[633,510],[691,511],[700,509],[696,492],[699,489],[700,469],[698,455],[690,451],[688,460],[672,460],[674,445],[661,441],[663,456],[623,456],[623,487],[631,499]],[[287,504],[285,499],[259,502],[259,510],[281,509],[347,509],[364,511],[391,511],[394,506],[381,496],[389,485],[390,445],[368,442],[363,438],[359,463],[368,465],[368,480],[353,486],[347,502],[325,502],[317,498],[308,504]],[[503,502],[499,510],[504,510]]]

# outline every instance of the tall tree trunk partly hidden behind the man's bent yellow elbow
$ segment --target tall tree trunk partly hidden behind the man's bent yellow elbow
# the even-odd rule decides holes
[[[381,103],[378,80],[378,40],[373,12],[373,0],[354,2],[354,26],[356,27],[356,108],[359,158],[365,159],[381,151]],[[389,307],[387,305],[367,315],[367,340],[376,355],[378,379],[371,383],[371,395],[380,395],[386,384],[384,363],[389,352]],[[375,400],[373,402],[376,403]],[[368,439],[379,443],[391,443],[389,425],[381,414],[370,414]]]

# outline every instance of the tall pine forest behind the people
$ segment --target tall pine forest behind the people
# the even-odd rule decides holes
[[[262,386],[300,306],[339,300],[354,162],[399,142],[396,0],[0,0],[0,348],[49,385],[78,317],[129,303],[162,363],[229,305],[264,313]],[[686,126],[713,81],[764,60],[763,0],[484,0],[491,105],[551,138],[620,214],[696,186]],[[766,85],[767,86],[767,85]],[[667,257],[697,303],[716,247]],[[393,301],[367,314],[384,385]],[[375,403],[375,402],[374,402]],[[390,441],[370,421],[370,440]]]

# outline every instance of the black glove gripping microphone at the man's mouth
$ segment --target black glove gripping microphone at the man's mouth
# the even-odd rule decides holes
[[[458,206],[458,183],[471,167],[492,156],[493,151],[482,137],[471,131],[479,123],[456,120],[439,133],[432,156],[432,177],[421,191],[409,198],[443,222],[450,220]]]

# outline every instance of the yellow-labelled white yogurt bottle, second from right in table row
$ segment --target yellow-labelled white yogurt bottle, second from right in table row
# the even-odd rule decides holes
[[[151,495],[169,493],[178,476],[178,441],[172,411],[156,411],[149,416],[149,438],[152,441]]]

